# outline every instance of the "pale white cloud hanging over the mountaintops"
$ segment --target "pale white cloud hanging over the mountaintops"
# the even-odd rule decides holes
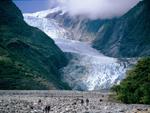
[[[128,12],[141,0],[60,0],[72,16],[110,19]]]

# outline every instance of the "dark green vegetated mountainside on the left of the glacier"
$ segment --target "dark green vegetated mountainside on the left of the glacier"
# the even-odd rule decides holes
[[[59,73],[66,64],[53,40],[27,25],[11,0],[0,0],[0,89],[68,89]]]

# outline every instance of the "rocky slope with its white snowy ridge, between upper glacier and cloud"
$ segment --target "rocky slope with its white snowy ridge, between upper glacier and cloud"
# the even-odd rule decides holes
[[[83,16],[73,17],[60,5],[34,14],[25,14],[25,16],[34,16],[37,18],[45,18],[47,20],[54,19],[59,23],[59,26],[68,31],[68,38],[72,40],[92,42],[103,23],[107,20],[90,20]]]

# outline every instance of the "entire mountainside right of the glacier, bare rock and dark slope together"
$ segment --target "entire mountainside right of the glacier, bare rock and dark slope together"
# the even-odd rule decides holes
[[[51,9],[44,17],[58,21],[72,34],[71,39],[92,42],[94,48],[108,56],[150,55],[148,0],[139,2],[123,16],[113,19],[91,20],[82,15],[71,16],[65,8],[60,7]]]

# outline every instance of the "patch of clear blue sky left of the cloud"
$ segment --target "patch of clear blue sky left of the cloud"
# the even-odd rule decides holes
[[[52,7],[55,0],[13,0],[23,13],[37,12]]]

